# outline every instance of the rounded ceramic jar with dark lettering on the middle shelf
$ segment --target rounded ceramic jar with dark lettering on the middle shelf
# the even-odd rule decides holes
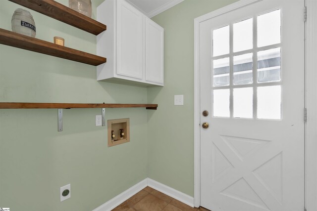
[[[11,19],[12,32],[34,38],[36,28],[33,16],[28,10],[18,8],[14,11]]]

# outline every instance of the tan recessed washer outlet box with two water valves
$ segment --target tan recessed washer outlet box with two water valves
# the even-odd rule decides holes
[[[108,120],[108,147],[130,142],[130,119]]]

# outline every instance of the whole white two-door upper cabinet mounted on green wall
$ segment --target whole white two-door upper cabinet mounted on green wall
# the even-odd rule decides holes
[[[105,0],[97,20],[107,31],[97,36],[97,80],[142,86],[163,85],[164,29],[125,0]]]

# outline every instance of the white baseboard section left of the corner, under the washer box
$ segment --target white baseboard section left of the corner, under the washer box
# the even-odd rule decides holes
[[[110,199],[107,201],[105,204],[99,206],[93,211],[111,211],[118,205],[120,205],[122,202],[126,201],[129,199],[131,196],[142,190],[148,186],[148,178],[142,180],[141,182],[137,183],[136,185],[133,185],[131,188],[128,190],[120,193],[119,195],[115,196],[114,198]]]

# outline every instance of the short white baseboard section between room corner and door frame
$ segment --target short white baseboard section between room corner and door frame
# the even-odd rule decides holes
[[[166,194],[167,196],[170,196],[174,199],[177,199],[178,201],[191,206],[192,208],[194,207],[194,197],[191,197],[187,194],[184,194],[178,190],[175,190],[174,188],[171,188],[167,185],[164,185],[162,183],[159,183],[153,179],[148,178],[148,186],[156,189],[159,192],[162,192]]]

